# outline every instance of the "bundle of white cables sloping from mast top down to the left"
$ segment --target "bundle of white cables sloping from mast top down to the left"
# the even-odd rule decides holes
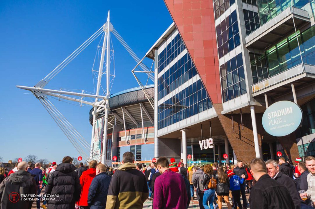
[[[103,28],[103,27],[102,27]],[[85,41],[80,47],[78,47],[71,55],[69,55],[62,63],[60,63],[53,71],[51,71],[43,80],[47,82],[54,78],[67,64],[69,64],[78,54],[80,54],[87,46],[90,45],[103,31],[100,28],[95,34],[93,34],[87,41]]]

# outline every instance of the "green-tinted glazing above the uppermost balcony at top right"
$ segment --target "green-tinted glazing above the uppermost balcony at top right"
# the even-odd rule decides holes
[[[284,9],[290,7],[292,2],[294,7],[302,8],[310,0],[257,0],[261,25],[277,16]]]

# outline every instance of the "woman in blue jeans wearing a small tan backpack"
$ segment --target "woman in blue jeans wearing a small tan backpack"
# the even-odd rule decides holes
[[[204,173],[201,180],[201,184],[203,185],[203,189],[204,189],[202,204],[205,209],[210,209],[210,208],[214,209],[213,201],[215,198],[215,189],[208,187],[211,179],[214,178],[212,166],[210,164],[206,164],[203,168],[203,172]],[[208,202],[209,202],[210,208],[208,206]]]

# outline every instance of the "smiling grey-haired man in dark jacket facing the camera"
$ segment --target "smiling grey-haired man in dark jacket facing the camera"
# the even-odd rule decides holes
[[[294,202],[295,209],[300,209],[300,197],[298,191],[296,190],[294,181],[289,176],[284,175],[279,171],[278,164],[274,160],[267,160],[266,167],[268,175],[287,188]]]

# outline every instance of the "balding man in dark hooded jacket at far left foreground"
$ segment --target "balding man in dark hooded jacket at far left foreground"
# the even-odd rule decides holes
[[[27,172],[27,162],[17,165],[17,171],[11,173],[0,184],[0,208],[3,209],[31,209],[33,201],[22,201],[21,195],[36,195],[37,184],[31,173]]]

